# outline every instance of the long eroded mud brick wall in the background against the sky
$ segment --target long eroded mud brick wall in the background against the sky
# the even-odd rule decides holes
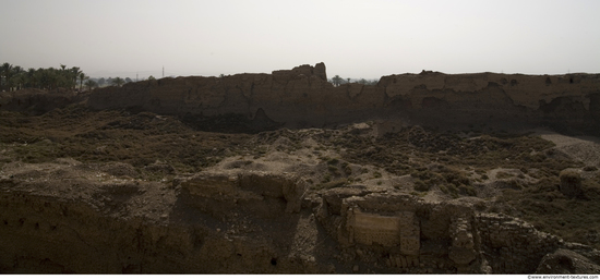
[[[568,133],[600,127],[600,75],[443,74],[383,76],[377,85],[333,86],[325,65],[272,74],[177,77],[95,90],[93,109],[136,109],[165,114],[242,114],[261,111],[289,127],[373,119],[409,124],[549,125]],[[262,109],[262,110],[260,110]]]

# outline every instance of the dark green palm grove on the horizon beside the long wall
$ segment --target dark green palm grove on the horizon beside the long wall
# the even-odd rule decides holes
[[[59,87],[82,90],[104,85],[108,82],[110,85],[121,86],[131,82],[120,77],[100,78],[98,82],[89,78],[80,68],[67,68],[60,64],[60,68],[38,68],[25,70],[19,65],[12,65],[8,62],[0,65],[0,92],[12,92],[22,88],[57,89]]]

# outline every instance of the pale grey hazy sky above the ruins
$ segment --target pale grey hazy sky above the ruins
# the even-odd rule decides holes
[[[92,76],[600,73],[600,1],[1,0],[0,63]]]

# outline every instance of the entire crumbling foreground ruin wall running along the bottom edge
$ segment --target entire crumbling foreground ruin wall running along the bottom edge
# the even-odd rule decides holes
[[[361,186],[307,196],[303,180],[268,172],[203,172],[171,186],[57,172],[75,170],[46,165],[36,176],[48,188],[0,181],[3,271],[533,273],[556,249],[600,271],[600,252],[458,200]],[[73,183],[89,196],[72,197]]]

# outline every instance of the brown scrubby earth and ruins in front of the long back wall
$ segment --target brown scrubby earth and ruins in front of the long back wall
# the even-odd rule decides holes
[[[380,135],[381,125],[243,134],[81,105],[41,115],[0,111],[0,269],[600,271],[597,138],[420,126]],[[565,169],[581,174],[581,196],[560,192]],[[349,239],[360,232],[346,230],[355,221],[345,207],[375,220],[412,211],[419,253]],[[488,220],[518,224],[518,236],[543,249],[527,255],[517,238],[494,241]],[[453,241],[461,227],[466,245]],[[476,253],[470,258],[457,248]]]

